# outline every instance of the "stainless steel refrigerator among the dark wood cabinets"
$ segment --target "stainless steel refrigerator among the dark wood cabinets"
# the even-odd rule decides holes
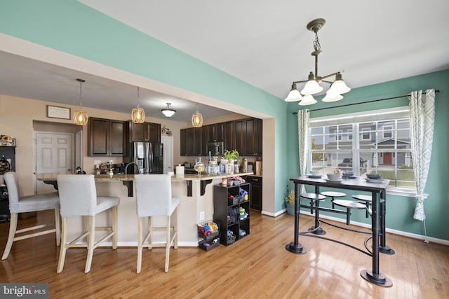
[[[163,174],[163,144],[157,142],[133,142],[129,157],[123,162],[135,162],[128,167],[128,174]],[[138,169],[138,171],[137,171]]]

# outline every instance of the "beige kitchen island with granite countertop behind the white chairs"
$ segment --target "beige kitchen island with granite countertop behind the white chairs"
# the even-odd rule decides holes
[[[185,174],[184,176],[172,176],[172,196],[180,198],[178,207],[178,246],[198,246],[196,225],[200,222],[213,219],[213,188],[219,185],[223,178],[232,176],[245,176],[253,172],[217,176],[201,177],[196,174]],[[140,174],[136,174],[140,175]],[[51,183],[57,188],[56,177],[58,174],[36,174],[36,179]],[[136,215],[134,196],[134,174],[114,174],[112,178],[107,174],[95,175],[95,185],[98,195],[120,197],[118,209],[118,245],[137,246],[138,239],[138,218]],[[124,185],[124,186],[123,186]],[[126,186],[126,188],[125,188]],[[108,214],[98,216],[98,225],[107,223]],[[81,217],[68,219],[68,238],[71,239],[80,235],[82,228]],[[154,219],[155,225],[163,223],[163,218]],[[156,236],[157,237],[157,236]],[[161,240],[163,236],[161,235]],[[105,243],[105,246],[109,244]]]

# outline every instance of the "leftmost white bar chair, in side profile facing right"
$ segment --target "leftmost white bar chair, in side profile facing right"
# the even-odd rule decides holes
[[[4,174],[4,180],[8,187],[9,197],[9,211],[11,212],[11,223],[9,223],[9,235],[6,242],[5,251],[2,260],[5,260],[9,256],[13,242],[36,237],[40,235],[46,235],[55,232],[56,233],[56,246],[60,246],[60,218],[59,218],[59,197],[58,193],[46,193],[39,195],[19,196],[19,185],[16,179],[15,172],[6,172]],[[55,210],[55,223],[35,225],[29,228],[17,229],[18,214],[30,211],[44,211],[47,209]],[[28,235],[22,235],[22,232],[29,232],[30,230],[39,230],[45,228],[48,225],[54,225],[55,228],[50,230],[41,230],[39,232],[32,232]],[[18,236],[17,236],[18,235]]]

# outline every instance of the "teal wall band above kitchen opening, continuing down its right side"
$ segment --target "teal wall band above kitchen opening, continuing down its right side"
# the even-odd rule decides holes
[[[0,32],[264,113],[275,119],[275,211],[283,209],[287,136],[282,99],[76,0],[0,2]]]

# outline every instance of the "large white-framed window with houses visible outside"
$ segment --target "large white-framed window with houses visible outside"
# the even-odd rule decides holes
[[[340,168],[362,178],[377,172],[390,180],[389,190],[416,190],[408,110],[311,118],[310,125],[309,169],[328,174]]]

